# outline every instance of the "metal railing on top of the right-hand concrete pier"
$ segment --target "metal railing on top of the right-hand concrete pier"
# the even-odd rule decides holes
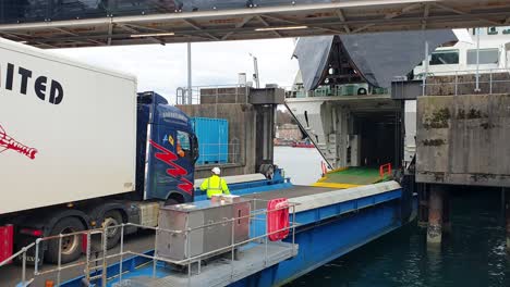
[[[508,68],[479,70],[478,75],[475,70],[422,73],[415,78],[424,83],[423,96],[491,95],[510,90]]]

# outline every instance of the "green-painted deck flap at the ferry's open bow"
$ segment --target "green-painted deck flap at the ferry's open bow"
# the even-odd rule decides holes
[[[379,169],[349,167],[344,171],[328,173],[321,183],[369,185],[381,182]]]

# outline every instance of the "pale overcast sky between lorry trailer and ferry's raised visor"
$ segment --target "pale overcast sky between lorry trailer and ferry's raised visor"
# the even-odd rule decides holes
[[[192,45],[193,86],[236,84],[238,74],[253,74],[258,58],[262,87],[291,86],[298,61],[291,60],[293,39],[198,42]],[[173,102],[175,89],[187,85],[186,45],[147,45],[61,49],[56,52],[93,65],[136,75],[138,91],[154,90]]]

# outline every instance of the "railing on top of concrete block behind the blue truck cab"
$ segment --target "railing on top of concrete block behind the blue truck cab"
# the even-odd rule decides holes
[[[211,85],[180,87],[175,91],[177,104],[221,104],[247,103],[250,86],[246,85]]]

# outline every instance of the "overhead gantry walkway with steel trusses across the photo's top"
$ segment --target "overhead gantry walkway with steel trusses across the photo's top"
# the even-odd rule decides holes
[[[500,26],[502,0],[0,0],[0,37],[39,48]]]

